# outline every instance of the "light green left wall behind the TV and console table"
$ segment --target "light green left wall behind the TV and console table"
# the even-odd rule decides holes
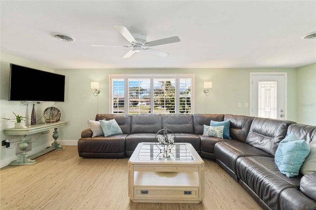
[[[52,68],[44,67],[42,65],[36,64],[34,62],[30,62],[15,56],[11,56],[5,53],[0,53],[0,116],[4,118],[13,118],[14,115],[12,111],[14,111],[16,114],[22,115],[27,118],[31,118],[33,103],[29,105],[20,105],[20,102],[13,102],[8,101],[9,98],[9,76],[10,76],[10,63],[39,69],[39,70],[45,70],[54,72],[55,70]],[[28,91],[28,86],[30,85],[36,85],[36,84],[30,84],[28,81],[21,81],[25,84],[25,89],[21,91]],[[39,87],[44,88],[44,87]],[[49,93],[47,93],[49,94]],[[53,105],[53,103],[41,103],[36,104],[36,116],[37,120],[40,120],[40,122],[44,122],[43,119],[40,119],[42,116],[42,113],[44,109],[48,106]],[[30,121],[27,121],[26,124],[30,124]],[[3,129],[6,128],[12,128],[14,127],[14,122],[11,122],[11,120],[4,120],[0,118],[0,140],[9,139],[11,142],[18,141],[19,136],[8,136],[4,135]],[[61,128],[62,129],[62,128]],[[50,131],[49,134],[43,134],[40,136],[40,134],[34,134],[34,135],[28,135],[27,140],[36,140],[37,141],[32,143],[32,151],[30,151],[28,154],[32,155],[36,152],[39,152],[40,150],[46,148],[47,146],[50,146],[51,143],[54,141],[52,138],[53,130]],[[0,167],[4,167],[8,165],[11,161],[16,160],[15,156],[15,147],[13,147],[14,143],[11,143],[10,147],[11,149],[5,148],[4,146],[0,146]],[[17,146],[17,145],[15,145]]]

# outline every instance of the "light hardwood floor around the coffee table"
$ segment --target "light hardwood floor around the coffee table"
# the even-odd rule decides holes
[[[77,146],[36,158],[33,166],[0,169],[1,210],[261,210],[215,161],[205,164],[205,197],[199,204],[133,203],[127,161],[85,159]],[[153,180],[155,181],[155,180]]]

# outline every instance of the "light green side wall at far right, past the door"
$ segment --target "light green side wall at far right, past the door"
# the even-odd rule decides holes
[[[316,64],[297,69],[298,123],[316,125]]]

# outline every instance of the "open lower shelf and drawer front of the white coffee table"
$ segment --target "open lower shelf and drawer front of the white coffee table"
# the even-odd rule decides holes
[[[134,172],[133,202],[198,204],[197,172]]]

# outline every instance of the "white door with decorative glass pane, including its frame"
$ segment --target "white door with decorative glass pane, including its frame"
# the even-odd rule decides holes
[[[286,72],[250,73],[250,115],[287,119]]]

